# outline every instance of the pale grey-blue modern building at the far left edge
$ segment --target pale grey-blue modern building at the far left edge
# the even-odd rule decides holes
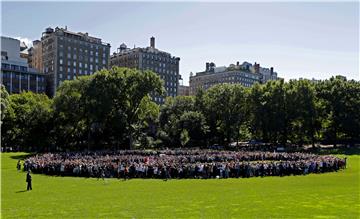
[[[45,92],[45,75],[29,67],[20,57],[20,41],[1,37],[1,84],[10,94],[23,91]]]

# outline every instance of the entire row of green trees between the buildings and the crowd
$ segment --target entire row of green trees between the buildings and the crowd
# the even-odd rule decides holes
[[[1,87],[2,147],[24,151],[360,142],[360,83],[343,77],[220,84],[163,96],[151,71],[114,67],[64,81],[54,98]]]

